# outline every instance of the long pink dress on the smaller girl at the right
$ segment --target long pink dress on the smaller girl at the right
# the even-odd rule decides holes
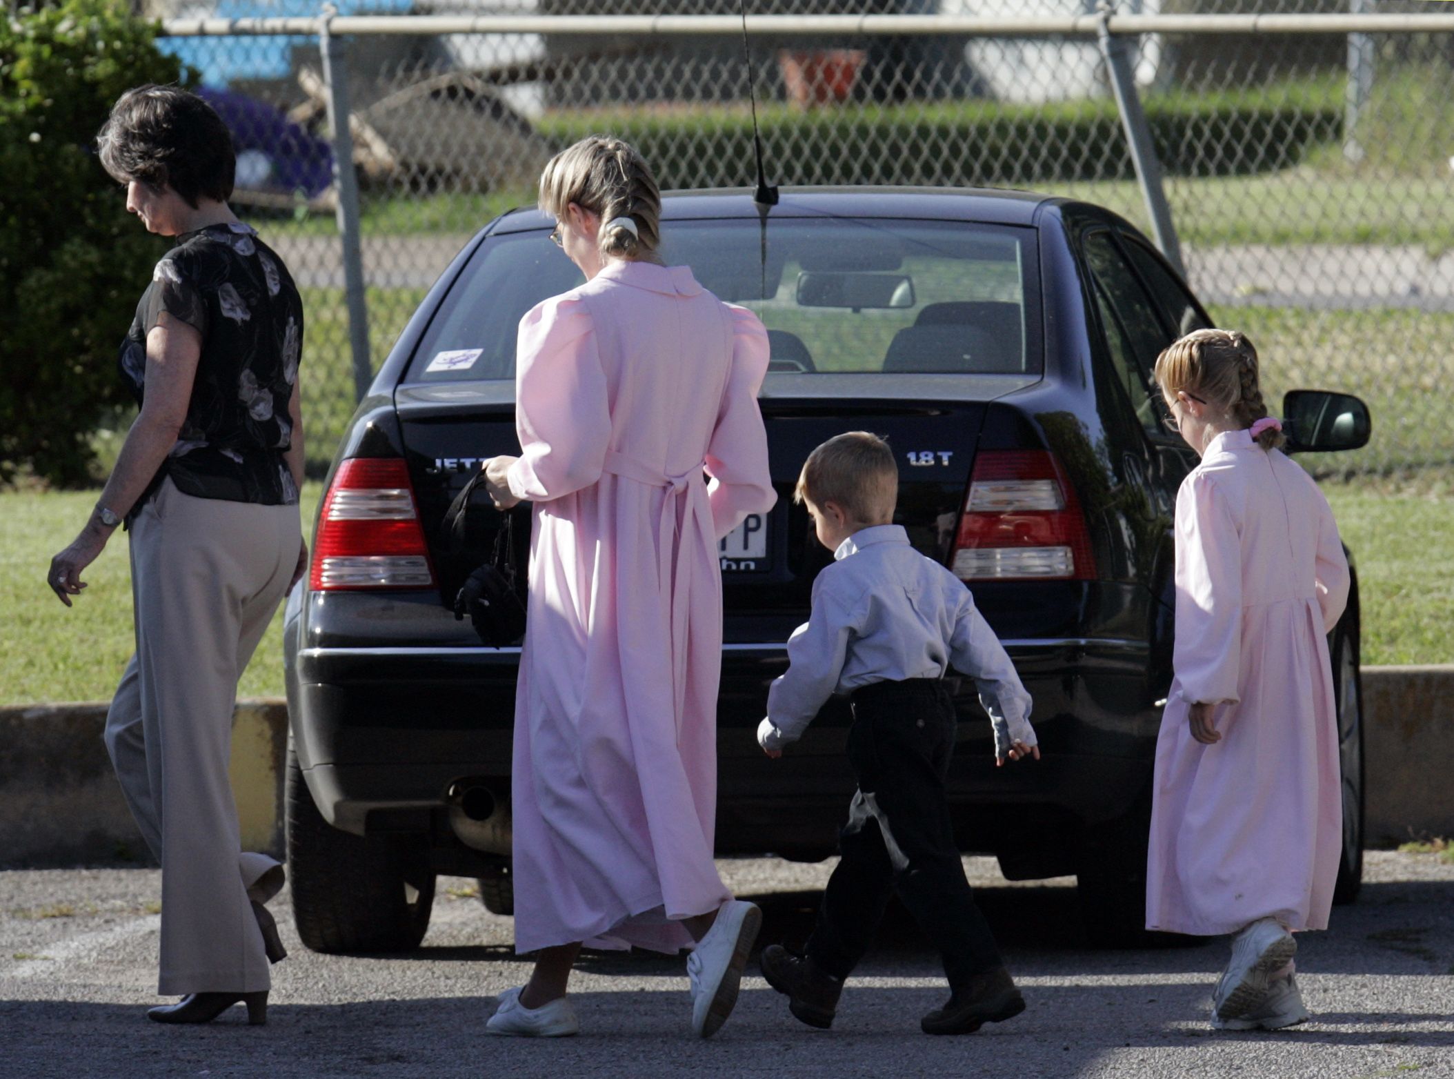
[[[1326,633],[1348,602],[1328,500],[1246,430],[1176,496],[1176,650],[1156,745],[1146,926],[1221,935],[1259,918],[1326,929],[1342,851]],[[1221,742],[1188,705],[1224,702]]]

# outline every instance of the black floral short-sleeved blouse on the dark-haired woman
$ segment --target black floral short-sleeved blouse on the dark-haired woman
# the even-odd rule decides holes
[[[292,505],[284,452],[298,381],[302,301],[282,259],[244,224],[185,233],[141,295],[121,345],[121,372],[140,404],[147,334],[166,311],[202,334],[192,401],[177,442],[138,506],[170,476],[201,499]]]

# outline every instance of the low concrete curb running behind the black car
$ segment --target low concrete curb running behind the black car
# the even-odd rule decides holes
[[[1367,845],[1454,838],[1454,665],[1364,667]],[[150,861],[102,743],[105,704],[0,708],[0,865]],[[243,849],[284,854],[288,705],[240,701],[233,793]]]

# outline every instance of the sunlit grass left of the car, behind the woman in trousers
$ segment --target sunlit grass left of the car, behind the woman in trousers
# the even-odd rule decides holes
[[[321,484],[302,490],[311,529]],[[45,585],[51,557],[96,505],[96,492],[0,493],[0,704],[109,699],[134,651],[128,537],[116,532],[65,608]],[[243,697],[282,694],[282,614],[243,675]]]

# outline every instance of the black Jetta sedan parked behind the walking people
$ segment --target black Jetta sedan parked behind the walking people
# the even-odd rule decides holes
[[[515,211],[471,240],[329,476],[285,633],[292,891],[317,950],[417,945],[441,873],[477,877],[490,909],[512,910],[519,649],[484,647],[451,609],[502,516],[474,506],[462,542],[441,521],[484,458],[519,452],[516,324],[580,282],[551,227]],[[1088,932],[1141,939],[1172,509],[1195,464],[1162,425],[1152,368],[1210,326],[1201,304],[1121,218],[1021,192],[797,189],[771,211],[746,192],[667,193],[663,237],[667,262],[755,310],[772,343],[760,403],[781,497],[721,544],[718,854],[835,851],[853,787],[846,707],[824,707],[776,762],[755,729],[830,558],[792,505],[798,470],[826,438],[874,430],[899,454],[896,522],[974,590],[1035,701],[1044,759],[996,769],[973,683],[957,683],[961,848],[1015,880],[1076,874]],[[1368,438],[1357,398],[1303,391],[1284,407],[1294,448]],[[1332,657],[1346,902],[1362,874],[1357,576]]]

